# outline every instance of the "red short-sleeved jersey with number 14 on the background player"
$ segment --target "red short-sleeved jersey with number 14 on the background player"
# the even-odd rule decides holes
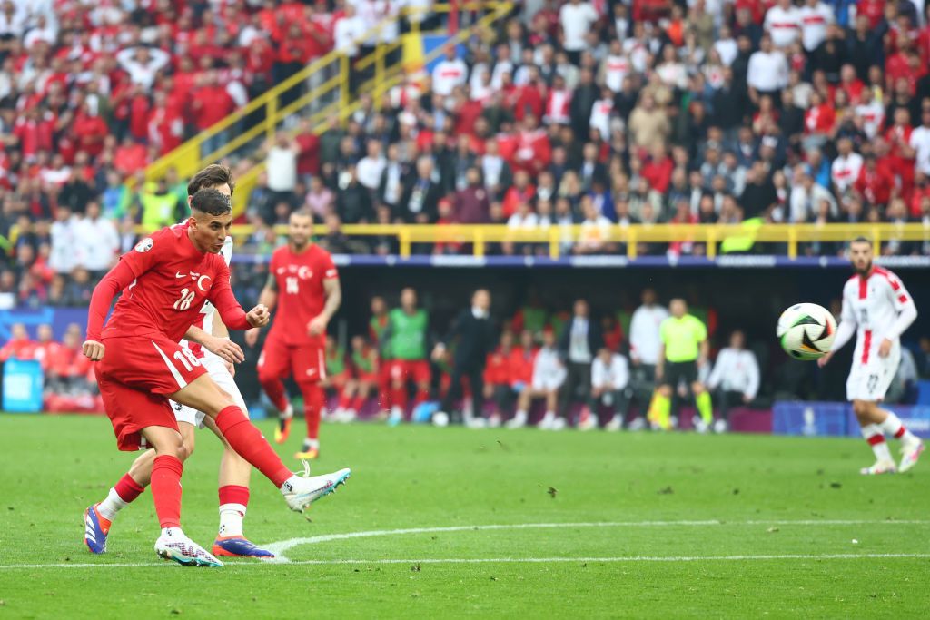
[[[322,347],[326,336],[311,336],[307,324],[326,304],[323,281],[339,277],[333,257],[319,245],[312,244],[300,254],[285,245],[274,250],[269,270],[278,286],[277,311],[269,336],[283,338],[288,345]]]

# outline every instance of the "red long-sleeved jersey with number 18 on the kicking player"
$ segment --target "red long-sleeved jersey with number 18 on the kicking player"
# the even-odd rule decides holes
[[[104,281],[110,285],[113,274],[125,273],[126,267],[135,280],[123,290],[100,337],[161,333],[177,342],[197,322],[207,299],[217,307],[228,327],[248,327],[245,312],[233,297],[226,261],[219,254],[201,252],[194,247],[187,229],[183,224],[157,231],[120,258],[120,265],[113,268]],[[98,288],[103,284],[101,282]],[[120,290],[121,284],[114,286],[113,293]],[[97,306],[105,303],[109,307],[113,299],[104,297],[98,296],[95,290],[87,324],[88,339],[98,339],[95,332],[102,317]],[[106,308],[102,311],[105,313]]]

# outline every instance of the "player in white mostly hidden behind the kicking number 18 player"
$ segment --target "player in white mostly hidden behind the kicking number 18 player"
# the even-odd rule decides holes
[[[198,190],[215,189],[227,196],[232,196],[235,185],[229,168],[222,165],[208,165],[198,172],[188,185],[188,200]],[[227,237],[221,251],[226,264],[233,257],[233,239]],[[234,402],[248,413],[246,402],[233,380],[234,363],[245,360],[242,349],[229,339],[226,326],[219,319],[219,312],[210,302],[201,309],[202,321],[193,325],[187,336],[196,342],[181,341],[181,346],[188,351],[185,355],[188,363],[202,364],[210,377],[233,397]],[[223,442],[223,455],[219,462],[219,534],[213,543],[213,554],[225,557],[250,557],[272,559],[271,551],[252,544],[242,531],[242,522],[246,516],[248,504],[248,481],[251,466],[223,439],[213,421],[203,413],[182,404],[171,402],[178,428],[184,442],[187,455],[193,453],[195,430],[207,426]],[[206,419],[205,419],[206,418]],[[85,543],[93,553],[106,551],[107,535],[116,514],[126,508],[148,486],[152,476],[154,451],[149,450],[135,460],[126,475],[117,482],[107,497],[87,508],[85,512]]]

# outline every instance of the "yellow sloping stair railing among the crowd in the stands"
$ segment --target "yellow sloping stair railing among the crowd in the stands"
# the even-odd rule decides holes
[[[452,10],[484,13],[467,30],[460,30],[450,36],[450,41],[458,44],[474,33],[488,32],[495,22],[510,14],[512,3],[471,2],[463,3],[458,7],[440,4],[429,9],[432,13],[446,13]],[[409,10],[407,12],[409,13]],[[410,25],[412,34],[419,34],[419,21],[411,20]],[[387,26],[387,21],[379,23],[378,26],[365,33],[361,40],[378,40],[382,30]],[[356,88],[354,95],[371,95],[376,106],[379,106],[381,97],[392,87],[401,84],[407,74],[408,68],[404,66],[403,61],[388,63],[392,55],[403,57],[403,46],[402,38],[390,44],[378,45],[371,54],[357,60],[354,67],[350,66],[350,59],[344,54],[335,50],[329,52],[259,97],[252,99],[243,108],[236,110],[153,162],[146,168],[146,178],[149,180],[162,178],[171,168],[178,172],[180,178],[189,178],[205,165],[223,161],[234,155],[240,160],[240,165],[235,166],[237,191],[233,197],[233,209],[237,215],[240,214],[246,207],[248,196],[258,182],[259,175],[264,170],[263,161],[251,161],[250,159],[256,152],[259,152],[260,141],[271,139],[279,126],[288,117],[294,115],[308,119],[312,130],[317,134],[326,130],[330,119],[335,118],[339,123],[344,122],[361,106],[358,99],[352,100],[353,93],[350,90],[352,71],[373,73],[372,78]],[[442,48],[432,50],[423,56],[421,62],[425,65],[442,54]],[[304,84],[313,82],[315,84],[312,84],[307,92],[293,92],[301,90]],[[292,93],[293,100],[282,105],[288,93]],[[308,108],[310,108],[309,112],[307,112]],[[250,119],[257,115],[263,118],[250,124]],[[229,136],[230,133],[235,135],[210,152],[204,152],[209,140],[219,136]]]

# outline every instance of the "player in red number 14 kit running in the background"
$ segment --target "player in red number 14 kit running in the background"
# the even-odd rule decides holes
[[[303,394],[307,437],[297,458],[320,453],[320,416],[326,398],[320,381],[326,377],[326,325],[339,310],[342,290],[333,258],[311,242],[313,218],[295,211],[287,223],[287,244],[274,250],[268,283],[259,306],[277,315],[259,356],[259,383],[279,412],[274,441],[284,443],[294,410],[288,402],[284,379],[293,376]],[[246,332],[246,344],[255,346],[258,329]]]

